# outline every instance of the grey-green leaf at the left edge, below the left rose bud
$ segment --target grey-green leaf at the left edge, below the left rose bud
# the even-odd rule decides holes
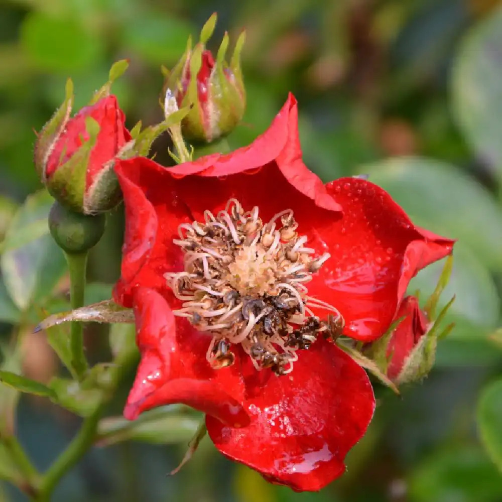
[[[0,270],[10,297],[23,311],[49,297],[66,271],[64,256],[47,225],[52,203],[46,191],[30,195],[17,211],[3,242]]]

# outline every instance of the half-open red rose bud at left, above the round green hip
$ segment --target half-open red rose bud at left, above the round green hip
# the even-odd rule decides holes
[[[38,134],[35,167],[51,195],[73,211],[96,214],[121,200],[113,160],[131,141],[131,135],[109,86],[126,67],[127,62],[115,63],[107,84],[72,118],[73,86],[69,80],[64,103]]]

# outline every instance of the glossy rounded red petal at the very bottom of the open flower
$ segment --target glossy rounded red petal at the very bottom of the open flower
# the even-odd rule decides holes
[[[364,370],[324,340],[300,351],[289,375],[243,362],[251,423],[235,429],[207,416],[218,450],[297,491],[319,490],[343,474],[345,455],[374,411]]]

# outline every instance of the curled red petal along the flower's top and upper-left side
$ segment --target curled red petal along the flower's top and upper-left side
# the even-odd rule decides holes
[[[169,169],[142,157],[117,161],[126,237],[115,299],[131,306],[138,284],[168,295],[163,274],[182,270],[178,246],[171,242],[178,225],[201,219],[206,209],[218,211],[232,197],[245,208],[258,205],[264,219],[287,208],[309,218],[315,212],[334,217],[338,204],[301,161],[297,126],[296,100],[290,95],[262,136],[227,156],[210,155]]]

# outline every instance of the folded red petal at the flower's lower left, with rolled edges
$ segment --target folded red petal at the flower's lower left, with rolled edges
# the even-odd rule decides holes
[[[206,361],[209,335],[183,319],[175,321],[166,300],[147,288],[135,292],[135,317],[141,362],[124,409],[126,418],[184,403],[234,427],[249,422],[239,403],[242,384],[236,366],[213,370]]]

